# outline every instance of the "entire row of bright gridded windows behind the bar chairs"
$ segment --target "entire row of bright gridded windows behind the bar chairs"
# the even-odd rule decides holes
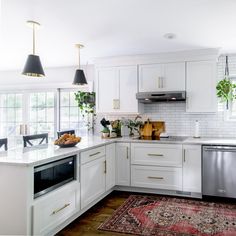
[[[27,126],[27,134],[49,133],[53,139],[57,130],[74,129],[83,135],[87,127],[75,101],[76,91],[0,92],[0,136],[22,144],[21,125]]]

